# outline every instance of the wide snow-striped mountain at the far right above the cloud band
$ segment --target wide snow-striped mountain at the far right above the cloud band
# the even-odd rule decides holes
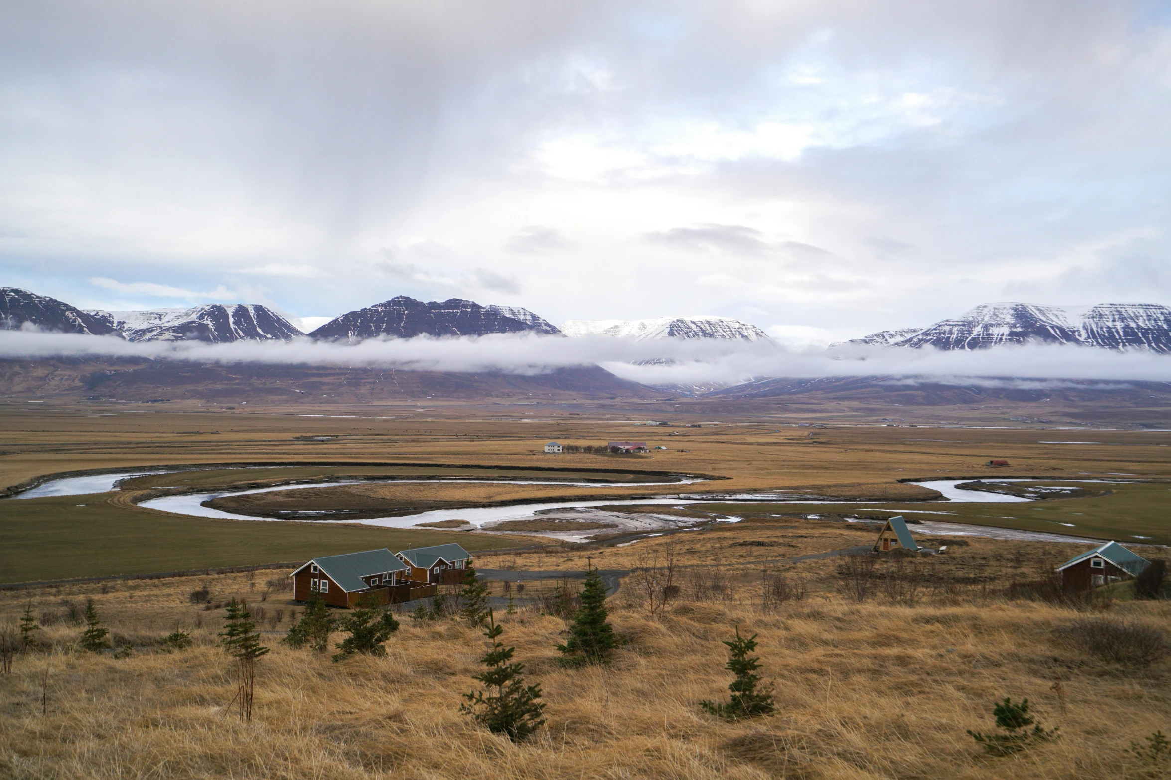
[[[905,336],[893,338],[902,333]],[[1026,343],[1171,352],[1171,308],[1153,303],[1074,308],[986,303],[930,327],[881,331],[847,344],[981,350]]]

